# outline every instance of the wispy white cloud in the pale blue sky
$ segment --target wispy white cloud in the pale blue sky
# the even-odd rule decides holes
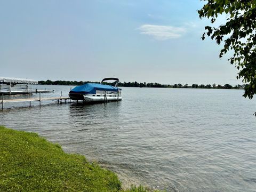
[[[172,38],[179,38],[186,32],[186,29],[183,27],[158,25],[142,25],[138,29],[141,30],[140,34],[150,35],[161,41]]]

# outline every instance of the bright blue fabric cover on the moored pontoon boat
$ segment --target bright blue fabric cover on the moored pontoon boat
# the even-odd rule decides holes
[[[86,83],[81,86],[76,86],[69,93],[81,93],[81,94],[95,94],[96,90],[100,91],[118,91],[118,87],[111,85],[102,85],[99,83]]]

